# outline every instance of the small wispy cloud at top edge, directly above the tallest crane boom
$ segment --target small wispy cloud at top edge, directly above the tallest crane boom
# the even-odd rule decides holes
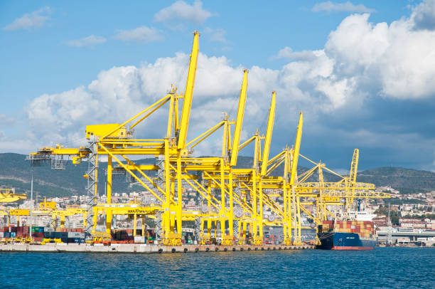
[[[154,21],[171,22],[181,19],[192,23],[203,23],[210,16],[213,16],[213,14],[203,9],[203,2],[195,1],[193,5],[189,5],[181,0],[157,12],[154,15]]]

